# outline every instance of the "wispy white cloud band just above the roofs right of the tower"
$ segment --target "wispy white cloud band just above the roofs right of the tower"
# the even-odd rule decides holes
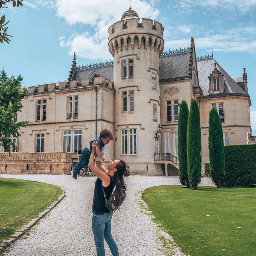
[[[249,52],[256,54],[256,27],[221,29],[219,34],[207,32],[205,37],[194,37],[196,49],[214,52]],[[190,38],[178,40],[165,39],[165,49],[189,46]]]

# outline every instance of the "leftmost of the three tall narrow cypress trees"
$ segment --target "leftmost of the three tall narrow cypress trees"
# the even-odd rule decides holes
[[[190,188],[188,180],[187,131],[188,104],[185,100],[182,100],[178,120],[179,178],[181,185]]]

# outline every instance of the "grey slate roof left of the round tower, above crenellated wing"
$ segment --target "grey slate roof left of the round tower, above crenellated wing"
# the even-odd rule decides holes
[[[92,75],[93,72],[96,72],[100,76],[104,76],[105,78],[107,78],[111,82],[114,81],[113,65],[76,70],[73,79],[89,78]]]

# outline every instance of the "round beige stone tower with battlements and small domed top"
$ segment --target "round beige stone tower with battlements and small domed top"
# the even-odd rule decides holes
[[[140,18],[130,7],[108,29],[108,49],[114,57],[115,158],[135,174],[162,175],[154,153],[160,143],[159,55],[164,28]]]

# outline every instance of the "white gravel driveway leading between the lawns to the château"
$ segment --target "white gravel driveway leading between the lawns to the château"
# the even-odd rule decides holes
[[[70,175],[3,175],[4,178],[33,180],[58,185],[66,197],[35,226],[28,239],[19,239],[7,256],[96,256],[92,235],[92,198],[95,177]],[[130,176],[126,178],[128,196],[120,212],[112,218],[112,235],[120,256],[163,256],[157,242],[155,223],[143,214],[135,200],[137,191],[157,185],[180,185],[177,177]],[[202,185],[212,186],[208,178]],[[67,250],[61,252],[60,250]],[[111,252],[105,244],[106,256]],[[184,255],[176,252],[175,255]]]

